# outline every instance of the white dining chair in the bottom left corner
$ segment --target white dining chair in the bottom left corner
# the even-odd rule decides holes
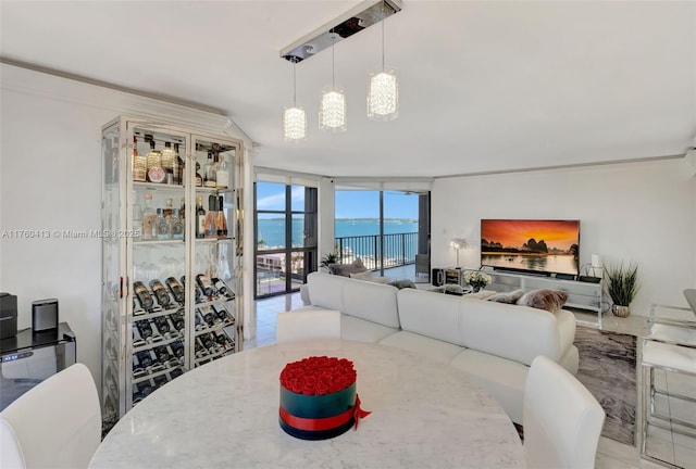
[[[41,381],[0,413],[0,466],[86,468],[101,441],[97,386],[83,364]]]

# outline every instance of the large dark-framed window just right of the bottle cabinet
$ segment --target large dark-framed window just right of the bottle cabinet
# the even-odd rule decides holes
[[[316,269],[316,188],[254,185],[256,297],[299,290]]]

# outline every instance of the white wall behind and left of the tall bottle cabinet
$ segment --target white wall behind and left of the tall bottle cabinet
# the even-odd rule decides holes
[[[20,329],[32,327],[33,301],[59,299],[60,320],[77,338],[77,360],[100,383],[101,241],[54,231],[101,227],[101,127],[121,114],[162,114],[175,124],[200,115],[207,124],[220,122],[222,132],[226,118],[4,64],[0,69],[0,291],[17,295]],[[229,134],[251,148],[234,126]],[[245,193],[247,212],[251,192]],[[15,237],[15,230],[51,236]],[[245,231],[248,249],[252,231]],[[245,301],[248,312],[249,295]]]

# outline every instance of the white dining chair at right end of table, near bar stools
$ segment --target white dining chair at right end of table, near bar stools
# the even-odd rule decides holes
[[[543,355],[532,362],[523,400],[530,469],[595,467],[605,410],[568,370]]]

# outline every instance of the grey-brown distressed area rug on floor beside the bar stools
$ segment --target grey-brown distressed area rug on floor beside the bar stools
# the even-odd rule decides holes
[[[635,445],[636,338],[577,326],[580,351],[576,378],[607,413],[601,435]]]

